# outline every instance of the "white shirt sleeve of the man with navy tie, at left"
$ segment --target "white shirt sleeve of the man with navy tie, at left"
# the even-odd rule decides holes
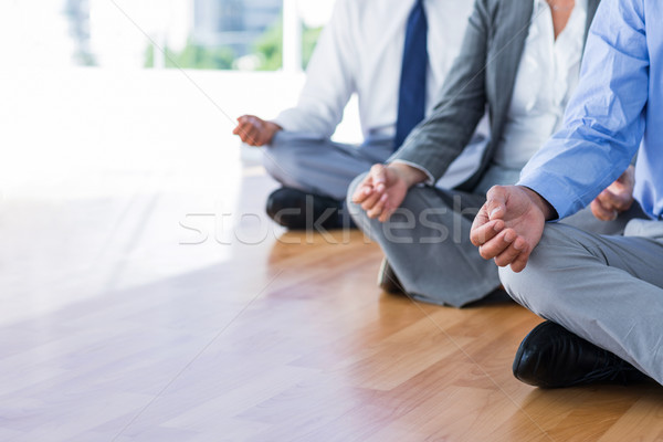
[[[330,137],[340,123],[356,88],[356,45],[352,44],[356,18],[351,14],[351,3],[337,1],[308,63],[297,105],[272,120],[285,130]]]

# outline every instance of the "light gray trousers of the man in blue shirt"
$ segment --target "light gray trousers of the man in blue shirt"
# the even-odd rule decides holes
[[[508,293],[537,315],[612,351],[663,383],[663,221],[635,219],[623,235],[548,224]]]

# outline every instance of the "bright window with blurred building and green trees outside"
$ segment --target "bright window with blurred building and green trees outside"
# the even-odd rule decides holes
[[[306,66],[333,1],[0,2],[0,49],[7,63],[25,67],[296,71]]]

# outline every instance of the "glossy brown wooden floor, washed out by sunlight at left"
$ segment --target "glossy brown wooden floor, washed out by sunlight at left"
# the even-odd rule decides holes
[[[107,106],[118,127],[154,110]],[[275,185],[232,140],[105,138],[123,134],[0,189],[0,441],[663,440],[657,386],[515,380],[539,322],[519,306],[387,295],[360,233],[275,227]]]

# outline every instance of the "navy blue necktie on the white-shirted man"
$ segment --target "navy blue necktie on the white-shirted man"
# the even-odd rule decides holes
[[[408,134],[423,119],[425,112],[425,74],[428,23],[423,0],[417,0],[408,18],[403,64],[398,92],[398,117],[393,149],[398,149]]]

